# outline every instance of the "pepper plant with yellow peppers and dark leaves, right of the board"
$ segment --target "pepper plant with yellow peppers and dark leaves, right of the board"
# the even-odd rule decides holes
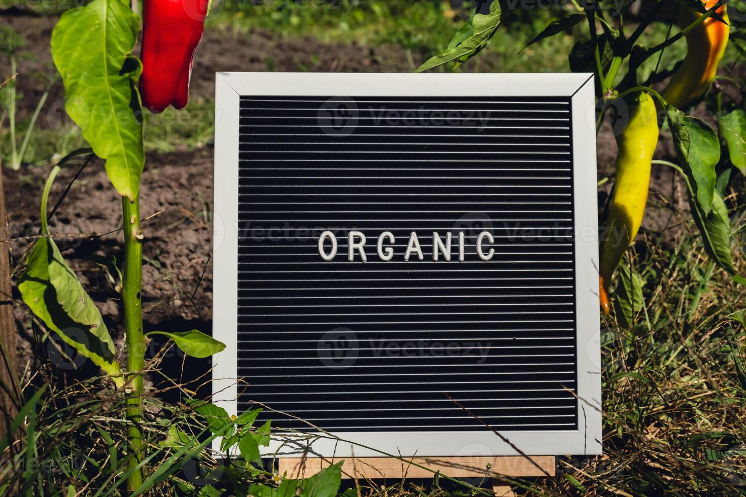
[[[570,68],[574,72],[595,75],[596,133],[601,130],[607,113],[618,121],[613,127],[619,150],[616,171],[613,178],[602,180],[603,183],[614,181],[609,204],[601,215],[600,229],[599,294],[605,314],[609,313],[607,292],[612,276],[642,224],[652,163],[668,165],[683,175],[689,191],[690,211],[703,247],[712,261],[734,281],[746,285],[746,279],[736,273],[733,265],[730,248],[733,232],[724,201],[733,170],[746,175],[746,113],[738,107],[738,101],[727,96],[724,104],[724,94],[718,92],[715,100],[719,134],[702,119],[686,114],[689,106],[706,97],[717,77],[718,64],[729,38],[733,39],[739,54],[746,56],[746,32],[739,25],[746,18],[746,12],[735,10],[742,8],[743,2],[728,6],[734,12],[732,19],[736,20],[732,24],[725,5],[727,0],[676,0],[675,22],[680,31],[671,35],[674,24],[671,22],[665,40],[653,46],[643,45],[640,39],[665,2],[653,4],[651,12],[630,28],[625,19],[633,3],[572,1],[528,43],[577,31],[576,26],[585,23],[587,35],[579,39],[568,54]],[[477,13],[474,9],[448,48],[427,60],[417,71],[441,66],[456,69],[466,63],[489,44],[500,28],[503,15],[499,1],[492,2],[489,13]],[[670,69],[659,68],[665,48],[685,41],[684,60]],[[651,63],[655,64],[655,69],[649,71]],[[646,71],[648,75],[643,77]],[[665,88],[656,92],[653,84],[668,77],[671,80]],[[733,77],[724,80],[735,84],[742,97],[746,95],[738,80]],[[671,129],[678,164],[653,160],[659,122],[664,120]],[[721,143],[724,144],[722,156]],[[633,268],[622,268],[618,272],[621,278],[617,285],[616,316],[620,324],[626,326],[642,308],[642,284]]]

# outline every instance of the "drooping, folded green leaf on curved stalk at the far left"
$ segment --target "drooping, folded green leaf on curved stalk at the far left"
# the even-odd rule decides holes
[[[37,241],[28,254],[18,289],[23,301],[48,329],[113,376],[117,386],[122,386],[124,380],[116,361],[116,349],[101,313],[48,236],[46,204],[59,170],[59,166],[54,167],[42,194],[42,234],[47,236]]]

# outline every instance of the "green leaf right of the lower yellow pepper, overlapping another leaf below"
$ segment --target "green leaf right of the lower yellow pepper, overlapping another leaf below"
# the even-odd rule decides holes
[[[704,215],[712,209],[715,165],[720,160],[720,142],[704,121],[684,115],[672,105],[665,108],[681,168],[689,178],[695,199]]]

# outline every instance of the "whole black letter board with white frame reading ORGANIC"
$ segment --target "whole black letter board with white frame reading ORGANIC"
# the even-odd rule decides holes
[[[600,453],[594,123],[592,75],[218,73],[215,402],[282,455]]]

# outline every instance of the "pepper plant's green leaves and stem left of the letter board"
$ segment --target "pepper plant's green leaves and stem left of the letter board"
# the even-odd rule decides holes
[[[181,2],[177,4],[181,6]],[[178,31],[178,26],[172,25],[169,29]],[[127,486],[131,492],[142,487],[147,475],[142,443],[142,371],[146,340],[142,329],[145,235],[140,226],[140,177],[145,166],[145,151],[138,90],[142,63],[132,54],[139,31],[140,16],[128,4],[122,0],[93,0],[64,13],[51,37],[52,58],[65,86],[65,110],[90,144],[90,150],[75,151],[70,156],[92,151],[104,159],[107,175],[122,196],[125,370],[120,369],[116,360],[116,350],[101,314],[64,261],[48,227],[46,203],[59,165],[51,171],[43,193],[43,238],[26,259],[26,270],[19,281],[23,300],[46,327],[90,358],[109,376],[114,387],[127,396]],[[189,53],[189,66],[193,48]],[[186,354],[201,358],[225,347],[197,330],[163,332],[163,335]]]

